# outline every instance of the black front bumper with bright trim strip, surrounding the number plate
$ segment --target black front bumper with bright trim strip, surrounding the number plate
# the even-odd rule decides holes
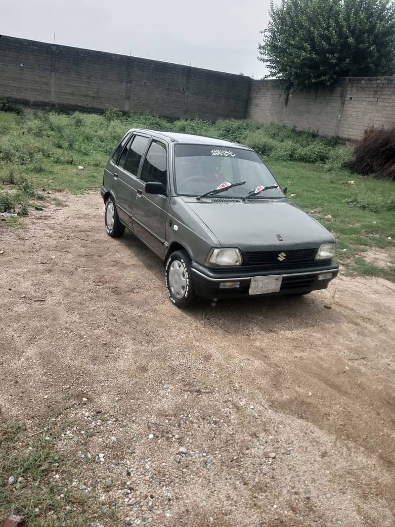
[[[319,280],[318,275],[331,272],[332,277]],[[266,293],[272,296],[301,294],[317,289],[326,289],[333,278],[338,275],[339,266],[333,261],[320,262],[317,265],[294,267],[287,270],[254,268],[243,269],[211,269],[192,261],[192,282],[196,294],[204,298],[238,298],[248,297],[251,278],[254,276],[282,276],[279,292]],[[234,289],[221,289],[221,282],[237,281],[240,287]]]

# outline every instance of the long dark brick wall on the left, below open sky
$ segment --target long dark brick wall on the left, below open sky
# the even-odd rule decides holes
[[[0,36],[0,97],[28,104],[242,119],[250,86],[243,75]]]

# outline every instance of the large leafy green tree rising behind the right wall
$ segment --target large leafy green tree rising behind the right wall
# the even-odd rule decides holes
[[[269,14],[258,59],[287,87],[395,72],[393,0],[272,0]]]

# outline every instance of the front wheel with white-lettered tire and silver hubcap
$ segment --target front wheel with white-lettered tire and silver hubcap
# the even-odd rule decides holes
[[[166,289],[177,307],[190,306],[195,299],[192,284],[191,259],[185,251],[172,252],[165,266]]]

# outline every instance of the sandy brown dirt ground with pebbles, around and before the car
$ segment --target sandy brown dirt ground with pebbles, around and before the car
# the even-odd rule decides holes
[[[395,525],[394,284],[181,311],[98,193],[62,199],[0,229],[0,417],[64,423],[92,525]]]

